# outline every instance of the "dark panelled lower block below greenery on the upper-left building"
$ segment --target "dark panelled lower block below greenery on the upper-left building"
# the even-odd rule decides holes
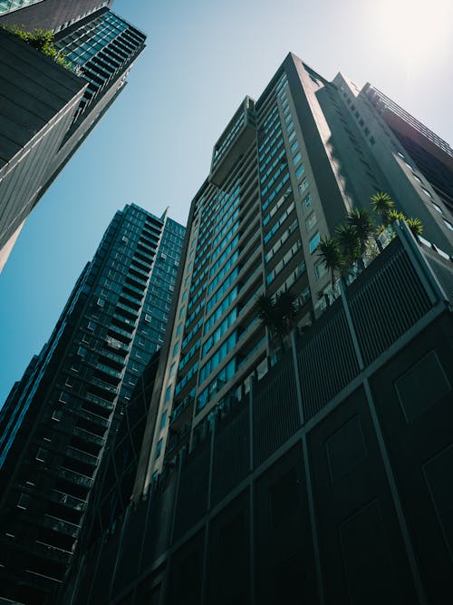
[[[86,83],[0,30],[0,249],[42,194]]]

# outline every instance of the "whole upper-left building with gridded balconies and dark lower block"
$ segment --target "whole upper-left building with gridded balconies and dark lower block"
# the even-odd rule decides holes
[[[4,2],[0,26],[53,30],[65,68],[0,30],[0,269],[24,220],[126,83],[145,35],[111,2]]]

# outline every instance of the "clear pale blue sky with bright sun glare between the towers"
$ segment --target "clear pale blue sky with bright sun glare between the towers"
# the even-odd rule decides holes
[[[0,406],[49,337],[115,210],[185,222],[212,146],[292,51],[371,82],[451,143],[450,0],[116,0],[148,34],[130,83],[27,220],[0,275]]]

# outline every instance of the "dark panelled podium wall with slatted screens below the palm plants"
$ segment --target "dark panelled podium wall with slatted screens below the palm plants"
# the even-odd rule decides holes
[[[452,261],[398,230],[84,553],[72,602],[444,602]]]

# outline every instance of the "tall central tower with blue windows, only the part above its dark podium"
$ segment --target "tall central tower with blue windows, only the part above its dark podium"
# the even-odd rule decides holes
[[[247,376],[265,370],[275,343],[256,318],[256,298],[292,288],[299,327],[320,315],[332,285],[316,249],[348,210],[369,208],[376,190],[387,191],[407,217],[422,221],[429,241],[452,252],[448,200],[369,93],[368,85],[359,91],[341,74],[328,82],[289,54],[258,101],[246,97],[217,141],[191,205],[173,333],[161,356],[165,376],[153,395],[159,415],[145,437],[138,497],[165,462],[194,443],[210,412],[236,398]],[[414,122],[408,115],[405,121]],[[421,126],[419,138],[438,155],[450,153]]]

